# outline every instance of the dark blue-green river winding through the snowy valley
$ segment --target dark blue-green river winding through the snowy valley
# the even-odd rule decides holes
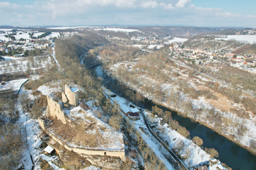
[[[102,82],[106,88],[112,90],[114,93],[117,93],[119,96],[122,96],[122,93],[125,93],[125,90],[129,90],[129,88],[125,88],[124,85],[113,80],[112,77],[109,77],[102,72],[102,66],[97,66],[95,68],[95,74],[98,77],[102,78]],[[122,88],[122,91],[117,91],[117,89]],[[136,92],[134,92],[136,93]],[[127,98],[130,99],[130,98]],[[153,101],[148,100],[147,98],[143,98],[143,102],[138,102],[136,105],[138,107],[142,107],[143,109],[151,110],[151,107],[154,107],[155,104]],[[233,170],[250,170],[256,169],[256,156],[252,155],[249,151],[244,148],[238,146],[233,143],[229,139],[225,138],[222,135],[217,134],[215,131],[211,130],[200,123],[196,123],[187,117],[182,117],[177,114],[177,112],[167,108],[157,105],[161,109],[172,112],[173,120],[177,120],[178,123],[190,132],[191,138],[194,136],[199,136],[203,139],[203,147],[214,147],[219,152],[219,161],[222,163],[226,163],[227,166],[230,166]]]

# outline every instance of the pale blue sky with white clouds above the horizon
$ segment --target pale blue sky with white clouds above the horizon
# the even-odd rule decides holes
[[[256,27],[255,7],[255,0],[8,0],[0,1],[0,26]]]

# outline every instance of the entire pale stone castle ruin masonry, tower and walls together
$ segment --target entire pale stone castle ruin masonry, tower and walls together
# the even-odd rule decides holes
[[[78,107],[79,105],[79,89],[78,88],[69,88],[65,85],[64,92],[62,92],[62,105],[58,102],[54,101],[53,98],[47,96],[48,107],[45,112],[44,117],[39,117],[39,125],[48,134],[52,139],[56,142],[64,146],[69,151],[74,151],[78,153],[78,155],[83,156],[84,158],[89,158],[89,155],[98,155],[104,156],[108,155],[110,157],[117,157],[121,160],[124,160],[125,153],[124,150],[100,150],[100,149],[85,149],[83,147],[72,147],[67,142],[65,142],[61,137],[57,136],[53,132],[49,131],[48,125],[46,122],[49,121],[50,117],[56,117],[58,120],[61,120],[63,124],[69,123],[72,128],[75,128],[74,122],[66,115],[64,110],[62,109],[62,105],[65,107]],[[92,163],[92,162],[91,162]]]

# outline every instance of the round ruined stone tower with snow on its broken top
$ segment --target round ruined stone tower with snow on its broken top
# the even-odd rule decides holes
[[[64,92],[62,92],[62,102],[64,104],[68,103],[72,107],[78,107],[79,105],[79,89],[69,88],[65,85]]]

